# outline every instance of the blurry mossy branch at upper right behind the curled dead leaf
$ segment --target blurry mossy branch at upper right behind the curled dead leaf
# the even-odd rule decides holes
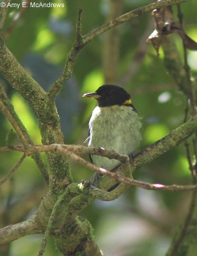
[[[173,76],[180,90],[183,91],[188,98],[193,100],[191,90],[189,88],[190,77],[188,77],[188,71],[184,68],[182,56],[180,55],[174,41],[172,34],[173,31],[171,31],[171,27],[176,24],[173,17],[172,7],[168,6],[165,8],[154,9],[152,15],[155,19],[155,30],[149,37],[148,41],[152,42],[157,51],[160,45],[162,46],[164,52],[164,63],[167,70]]]

